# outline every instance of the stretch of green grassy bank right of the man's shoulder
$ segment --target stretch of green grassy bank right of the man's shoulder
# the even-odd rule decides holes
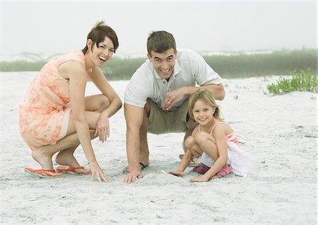
[[[317,50],[282,50],[271,54],[212,56],[205,59],[224,78],[290,75],[291,71],[307,69],[317,74]]]

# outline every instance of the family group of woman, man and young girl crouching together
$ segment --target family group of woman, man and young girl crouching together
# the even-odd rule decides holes
[[[122,108],[122,100],[100,69],[118,47],[115,31],[98,22],[83,50],[52,59],[35,76],[19,105],[20,134],[42,168],[25,168],[26,172],[42,178],[73,173],[89,174],[92,181],[110,180],[100,168],[91,140],[107,141],[109,118]],[[194,163],[193,171],[201,175],[192,182],[230,173],[247,175],[251,160],[216,103],[225,98],[221,77],[198,53],[177,50],[175,38],[167,31],[148,36],[147,52],[148,59],[131,76],[124,92],[128,161],[124,182],[143,178],[143,168],[149,166],[148,132],[185,133],[180,140],[184,154],[172,175],[182,175]],[[100,94],[85,96],[88,79]],[[80,144],[89,168],[73,156]]]

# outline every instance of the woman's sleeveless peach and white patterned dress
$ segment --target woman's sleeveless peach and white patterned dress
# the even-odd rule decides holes
[[[70,52],[52,59],[40,70],[20,103],[20,134],[30,149],[56,144],[66,135],[69,122],[69,80],[58,68],[68,61],[85,65],[83,52]],[[87,71],[88,78],[91,71]]]

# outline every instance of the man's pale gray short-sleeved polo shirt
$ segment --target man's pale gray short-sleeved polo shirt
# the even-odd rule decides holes
[[[147,59],[136,70],[124,93],[124,103],[143,108],[147,98],[163,108],[163,100],[168,91],[183,86],[220,84],[220,76],[205,62],[204,58],[192,50],[177,50],[175,68],[169,81],[161,78]],[[184,98],[175,107],[182,105]]]

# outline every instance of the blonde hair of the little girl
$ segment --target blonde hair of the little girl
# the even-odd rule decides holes
[[[222,118],[220,117],[220,106],[216,104],[216,98],[214,98],[213,93],[206,88],[197,89],[196,91],[194,91],[194,93],[192,93],[192,95],[189,98],[188,111],[190,117],[192,117],[193,120],[194,116],[192,110],[194,108],[194,103],[196,103],[197,100],[202,100],[207,105],[210,105],[212,108],[215,108],[216,111],[213,113],[213,116],[222,120]]]

